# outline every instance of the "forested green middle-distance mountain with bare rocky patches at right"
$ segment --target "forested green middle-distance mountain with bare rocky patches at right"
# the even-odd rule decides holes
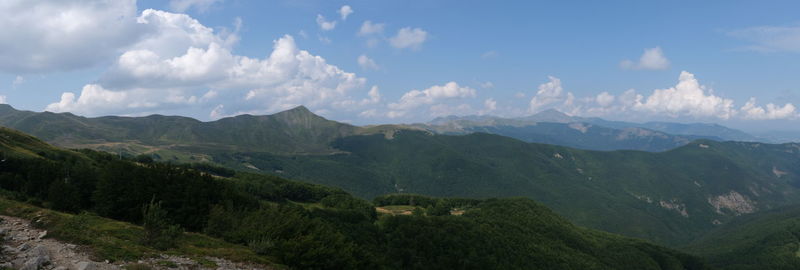
[[[344,188],[533,198],[592,228],[677,245],[734,217],[798,201],[798,145],[696,141],[663,152],[597,152],[490,134],[350,136],[346,153],[214,155],[231,167]]]

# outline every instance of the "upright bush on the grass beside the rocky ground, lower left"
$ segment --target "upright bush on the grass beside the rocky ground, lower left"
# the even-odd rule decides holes
[[[161,208],[160,201],[156,203],[152,200],[142,207],[142,217],[144,219],[142,242],[145,245],[160,250],[175,247],[182,231],[179,226],[169,223],[167,211]]]

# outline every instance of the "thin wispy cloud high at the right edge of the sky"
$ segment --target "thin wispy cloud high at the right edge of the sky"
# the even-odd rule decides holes
[[[748,50],[761,52],[800,52],[800,26],[757,26],[729,32],[752,45]]]

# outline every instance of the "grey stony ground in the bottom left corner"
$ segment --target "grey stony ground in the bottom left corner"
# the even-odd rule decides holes
[[[47,231],[33,228],[24,219],[0,215],[2,254],[0,269],[23,270],[105,270],[105,269],[265,269],[206,257],[216,266],[209,267],[185,257],[161,255],[136,262],[98,262],[86,248],[47,237]]]

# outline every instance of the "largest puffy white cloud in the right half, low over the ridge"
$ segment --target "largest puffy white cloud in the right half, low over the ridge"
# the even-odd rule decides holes
[[[736,114],[733,100],[715,96],[712,90],[700,85],[694,74],[686,71],[681,72],[677,85],[654,90],[644,102],[635,104],[634,109],[672,117],[729,119]]]

